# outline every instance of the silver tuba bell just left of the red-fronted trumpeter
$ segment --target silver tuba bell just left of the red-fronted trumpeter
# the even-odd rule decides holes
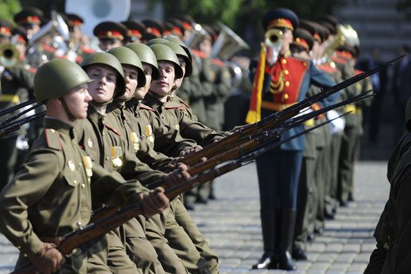
[[[229,61],[234,54],[240,52],[243,49],[249,49],[249,45],[233,32],[230,27],[227,27],[223,23],[219,23],[221,31],[219,37],[217,37],[214,45],[212,45],[211,56],[212,58],[218,58],[225,61],[225,64],[230,69],[232,87],[237,88],[240,86],[243,80],[243,70],[235,62]]]

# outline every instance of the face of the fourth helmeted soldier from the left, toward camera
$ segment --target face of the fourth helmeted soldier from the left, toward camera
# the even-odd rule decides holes
[[[159,61],[158,68],[160,71],[159,80],[151,83],[150,90],[160,96],[166,96],[174,86],[175,69],[172,62]]]

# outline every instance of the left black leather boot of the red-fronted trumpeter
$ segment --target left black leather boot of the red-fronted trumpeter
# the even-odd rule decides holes
[[[261,210],[261,228],[263,230],[264,254],[252,269],[275,269],[277,266],[275,253],[276,212]]]

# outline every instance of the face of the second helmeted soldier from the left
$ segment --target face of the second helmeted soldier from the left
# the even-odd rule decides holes
[[[94,101],[109,102],[114,95],[117,74],[114,69],[104,65],[91,65],[86,73],[93,82],[89,83],[89,93]]]

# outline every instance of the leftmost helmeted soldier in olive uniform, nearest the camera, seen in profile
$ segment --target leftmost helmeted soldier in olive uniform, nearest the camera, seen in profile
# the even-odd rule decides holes
[[[34,78],[36,100],[47,106],[45,130],[0,193],[0,229],[21,250],[17,267],[30,260],[41,273],[110,273],[104,255],[93,254],[107,249],[105,240],[85,244],[66,259],[56,249],[62,236],[89,222],[92,199],[122,205],[140,198],[148,216],[168,205],[161,188],[136,195],[145,190],[140,183],[126,183],[80,150],[74,125],[87,117],[89,82],[78,65],[61,59],[43,65]]]

